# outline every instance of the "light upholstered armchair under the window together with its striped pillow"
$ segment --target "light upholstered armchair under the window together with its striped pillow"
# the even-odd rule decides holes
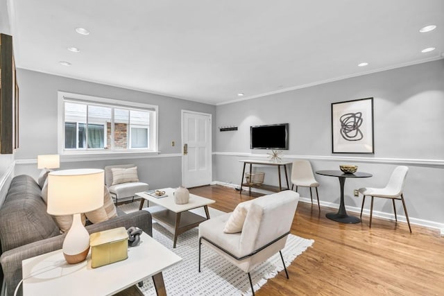
[[[136,192],[147,191],[148,184],[139,182],[135,164],[120,164],[105,166],[105,185],[110,190],[112,198],[133,198]]]

